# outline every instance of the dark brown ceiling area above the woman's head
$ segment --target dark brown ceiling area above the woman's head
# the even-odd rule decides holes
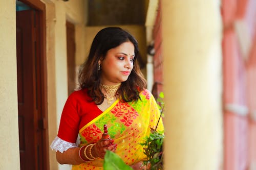
[[[88,26],[144,25],[148,0],[88,0]]]

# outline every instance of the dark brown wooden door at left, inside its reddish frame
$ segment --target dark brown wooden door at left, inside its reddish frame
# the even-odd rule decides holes
[[[36,10],[16,12],[20,169],[44,165],[39,21]]]

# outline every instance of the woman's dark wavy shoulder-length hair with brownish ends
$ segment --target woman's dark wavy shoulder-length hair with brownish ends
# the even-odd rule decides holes
[[[91,96],[97,105],[100,105],[104,100],[104,95],[100,90],[102,70],[98,70],[98,61],[99,59],[104,60],[106,53],[111,48],[115,48],[127,41],[134,44],[134,67],[128,79],[121,83],[117,93],[122,101],[131,102],[138,100],[139,92],[146,88],[146,81],[140,71],[138,63],[140,55],[137,40],[121,28],[104,28],[94,37],[89,56],[81,65],[78,74],[80,88],[87,88],[88,95]]]

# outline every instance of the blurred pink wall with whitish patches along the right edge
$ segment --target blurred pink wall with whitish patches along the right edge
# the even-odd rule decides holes
[[[247,170],[256,163],[256,1],[223,0],[222,18],[224,169]],[[247,56],[242,50],[246,36],[251,42]]]

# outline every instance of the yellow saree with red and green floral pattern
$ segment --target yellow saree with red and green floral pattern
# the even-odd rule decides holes
[[[108,109],[79,130],[80,146],[97,142],[103,133],[103,125],[114,143],[117,144],[116,154],[128,164],[134,164],[146,158],[140,145],[149,136],[150,128],[157,125],[160,116],[153,95],[148,90],[140,92],[140,99],[129,103],[117,100]],[[162,119],[158,131],[163,131]],[[79,165],[73,165],[72,170],[103,169],[103,159],[95,159]]]

